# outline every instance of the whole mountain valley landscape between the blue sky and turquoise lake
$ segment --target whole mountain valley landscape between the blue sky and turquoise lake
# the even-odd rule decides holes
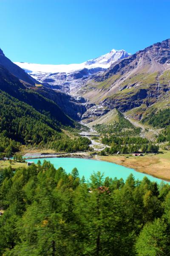
[[[121,157],[170,147],[170,39],[68,65],[13,63],[0,49],[0,97],[3,157],[88,152],[137,169],[139,160]],[[163,171],[156,161],[156,173],[143,164],[139,171],[170,180],[169,162]]]

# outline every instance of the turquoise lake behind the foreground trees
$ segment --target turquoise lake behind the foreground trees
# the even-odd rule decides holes
[[[27,162],[32,161],[37,163],[38,160],[43,163],[44,160],[50,161],[54,165],[56,169],[62,167],[65,171],[71,172],[74,167],[76,167],[79,171],[79,177],[85,176],[85,179],[88,180],[93,174],[93,172],[102,172],[104,173],[104,177],[117,177],[118,179],[126,178],[132,173],[135,179],[142,180],[144,176],[148,177],[151,181],[157,181],[158,183],[161,182],[161,179],[155,178],[153,176],[136,172],[134,169],[127,168],[125,166],[117,165],[116,163],[108,163],[104,161],[98,160],[90,160],[84,158],[69,158],[69,157],[54,157],[54,158],[36,158],[36,159],[29,159],[26,160]],[[165,181],[167,182],[167,181]],[[170,182],[167,182],[170,183]]]

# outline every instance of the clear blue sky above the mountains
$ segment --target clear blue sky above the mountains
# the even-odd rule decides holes
[[[0,48],[12,61],[81,63],[170,38],[170,0],[0,0]]]

